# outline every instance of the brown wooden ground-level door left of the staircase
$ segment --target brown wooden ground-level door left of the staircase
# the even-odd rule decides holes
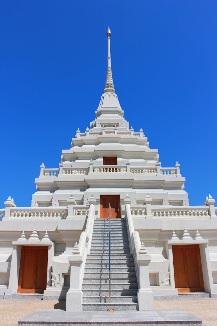
[[[47,286],[47,246],[22,246],[18,292],[43,293]]]

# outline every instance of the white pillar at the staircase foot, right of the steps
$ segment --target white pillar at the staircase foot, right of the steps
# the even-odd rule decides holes
[[[139,310],[154,309],[153,292],[150,289],[149,282],[149,263],[151,256],[147,254],[140,254],[136,257],[136,262],[139,267],[139,291],[137,298],[139,303]]]

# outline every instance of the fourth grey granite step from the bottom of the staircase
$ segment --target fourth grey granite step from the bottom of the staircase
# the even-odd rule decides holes
[[[137,283],[111,283],[111,291],[112,290],[128,290],[128,289],[137,289]],[[96,283],[85,283],[82,285],[82,291],[85,290],[109,290],[109,284],[96,284]]]

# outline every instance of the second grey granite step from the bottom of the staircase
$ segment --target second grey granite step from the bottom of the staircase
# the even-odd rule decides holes
[[[134,302],[137,303],[137,296],[136,295],[125,295],[125,296],[111,296],[111,303],[118,303],[118,302]],[[83,296],[83,302],[97,302],[97,303],[109,303],[109,296],[102,296],[102,295],[87,295]]]

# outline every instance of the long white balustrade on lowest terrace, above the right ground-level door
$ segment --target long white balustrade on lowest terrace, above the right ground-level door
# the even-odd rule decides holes
[[[209,216],[209,206],[170,206],[157,207],[152,206],[152,216],[168,217],[168,216]]]

